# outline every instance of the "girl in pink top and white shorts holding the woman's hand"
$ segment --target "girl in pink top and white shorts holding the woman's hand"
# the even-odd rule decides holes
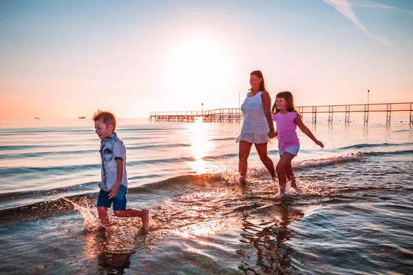
[[[289,91],[282,91],[275,97],[275,103],[271,111],[273,115],[271,118],[277,125],[274,137],[278,136],[278,151],[279,162],[275,167],[278,176],[279,191],[274,199],[284,197],[286,190],[286,179],[291,181],[291,187],[297,190],[297,183],[293,174],[293,167],[291,160],[297,155],[299,151],[299,140],[297,136],[297,126],[299,129],[308,135],[315,144],[324,148],[324,144],[319,142],[311,131],[304,125],[301,120],[302,116],[295,110],[293,94]]]

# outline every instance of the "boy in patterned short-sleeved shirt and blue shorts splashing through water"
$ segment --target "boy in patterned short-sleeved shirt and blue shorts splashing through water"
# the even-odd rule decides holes
[[[140,217],[145,230],[149,229],[149,210],[126,208],[127,174],[126,148],[116,135],[116,118],[109,111],[96,111],[94,120],[96,134],[100,138],[102,158],[102,181],[98,197],[98,215],[103,228],[109,225],[107,209],[114,203],[116,217]]]

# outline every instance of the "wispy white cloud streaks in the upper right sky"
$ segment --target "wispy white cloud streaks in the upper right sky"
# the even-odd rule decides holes
[[[340,12],[345,17],[350,19],[350,21],[352,21],[352,23],[357,25],[357,27],[359,27],[363,32],[365,32],[369,36],[372,36],[372,38],[377,39],[378,41],[380,41],[384,45],[388,45],[388,46],[394,45],[394,43],[392,43],[392,41],[386,39],[385,37],[378,36],[376,34],[370,33],[367,30],[367,28],[363,25],[363,23],[361,23],[359,21],[356,14],[354,14],[354,12],[352,11],[352,5],[347,0],[324,0],[324,2],[328,3],[328,5],[332,5],[338,12]],[[383,7],[391,8],[390,6],[387,6],[387,5],[380,5],[379,6],[379,4],[377,4],[377,6],[375,6],[375,8],[379,8],[379,7],[380,8],[383,8]]]

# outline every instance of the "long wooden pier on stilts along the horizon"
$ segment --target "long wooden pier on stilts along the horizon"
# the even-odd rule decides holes
[[[317,122],[317,114],[326,114],[328,122],[332,122],[337,113],[344,114],[344,122],[350,122],[350,115],[363,115],[363,121],[368,124],[371,113],[385,113],[386,124],[390,124],[393,113],[409,113],[409,123],[413,124],[413,102],[375,103],[375,104],[343,104],[321,106],[295,107],[303,117],[311,115],[313,122]],[[149,121],[156,122],[240,122],[242,112],[240,108],[213,109],[209,111],[156,111],[151,112]]]

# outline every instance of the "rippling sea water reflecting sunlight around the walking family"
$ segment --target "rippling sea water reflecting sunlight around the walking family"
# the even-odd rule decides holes
[[[301,192],[253,147],[237,173],[242,122],[120,118],[127,206],[151,211],[100,230],[100,140],[85,119],[0,120],[0,274],[413,274],[409,115],[304,117]],[[277,164],[277,140],[268,143]]]

